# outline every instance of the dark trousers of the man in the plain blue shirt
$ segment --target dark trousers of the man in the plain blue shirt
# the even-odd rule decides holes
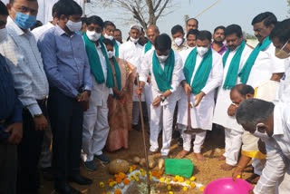
[[[62,184],[68,176],[80,173],[83,110],[80,102],[51,88],[48,112],[53,131],[55,184]]]

